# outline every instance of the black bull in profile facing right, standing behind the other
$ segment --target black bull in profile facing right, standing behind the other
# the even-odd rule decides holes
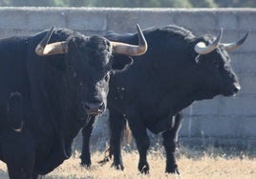
[[[139,171],[149,172],[146,159],[149,138],[146,129],[162,132],[166,172],[179,173],[175,159],[176,138],[181,128],[181,110],[194,101],[216,95],[234,95],[240,89],[227,51],[241,46],[248,32],[235,43],[221,44],[218,37],[197,37],[190,30],[166,26],[143,30],[148,50],[134,65],[113,74],[108,95],[111,130],[110,156],[113,166],[123,169],[120,141],[126,119],[139,149]],[[137,43],[136,34],[110,32],[110,40]],[[83,131],[81,164],[91,165],[89,140],[94,120]]]

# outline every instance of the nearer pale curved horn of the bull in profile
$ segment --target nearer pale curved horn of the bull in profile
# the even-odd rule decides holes
[[[212,44],[206,46],[204,42],[199,42],[196,44],[194,50],[199,54],[207,54],[207,53],[215,50],[221,41],[222,34],[223,34],[223,29],[220,30],[217,38],[215,39],[215,41]]]

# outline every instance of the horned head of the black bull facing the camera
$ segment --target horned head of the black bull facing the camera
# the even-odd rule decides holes
[[[104,37],[88,37],[75,32],[65,41],[48,44],[53,30],[49,30],[37,45],[37,55],[65,54],[69,79],[75,89],[78,118],[96,115],[106,109],[110,72],[123,70],[147,50],[147,43],[138,25],[139,46],[109,41]]]

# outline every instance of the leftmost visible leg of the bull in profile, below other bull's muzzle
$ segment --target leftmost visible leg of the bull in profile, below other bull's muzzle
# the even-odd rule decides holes
[[[80,159],[81,165],[86,167],[90,167],[92,165],[90,152],[90,137],[94,129],[95,119],[95,117],[92,117],[89,123],[82,129],[83,146]]]

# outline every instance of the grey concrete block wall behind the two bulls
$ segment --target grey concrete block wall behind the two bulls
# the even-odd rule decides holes
[[[222,42],[250,30],[245,45],[230,53],[242,90],[235,97],[218,96],[185,109],[180,140],[184,143],[256,146],[256,10],[255,9],[95,9],[0,8],[0,37],[28,35],[52,26],[102,35],[108,30],[134,32],[176,24],[195,34],[217,34]],[[107,113],[98,117],[92,143],[107,139]],[[104,140],[102,140],[104,138]],[[78,139],[79,141],[79,139]]]

